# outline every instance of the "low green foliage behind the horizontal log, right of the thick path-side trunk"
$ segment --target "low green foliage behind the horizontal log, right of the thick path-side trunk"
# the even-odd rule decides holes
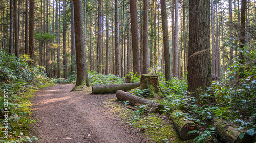
[[[88,71],[88,78],[92,86],[124,83],[121,78],[114,74],[102,75],[96,71]]]

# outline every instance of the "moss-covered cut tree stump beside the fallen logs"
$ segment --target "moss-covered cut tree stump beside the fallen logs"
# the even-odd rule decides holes
[[[140,78],[140,87],[139,89],[148,89],[151,96],[147,97],[155,97],[157,95],[161,96],[162,93],[159,88],[158,76],[142,74]]]

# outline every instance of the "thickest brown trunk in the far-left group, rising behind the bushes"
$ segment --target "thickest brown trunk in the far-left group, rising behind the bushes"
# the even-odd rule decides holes
[[[29,0],[29,56],[34,60],[34,21],[35,21],[35,0]],[[30,65],[34,64],[31,62]]]

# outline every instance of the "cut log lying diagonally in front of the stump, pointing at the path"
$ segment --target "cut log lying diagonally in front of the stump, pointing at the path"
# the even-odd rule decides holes
[[[134,106],[140,106],[140,105],[148,105],[148,107],[152,108],[152,112],[161,112],[163,109],[163,105],[156,103],[151,100],[147,100],[142,97],[138,97],[136,95],[133,95],[132,93],[127,93],[122,90],[118,90],[116,92],[116,97],[118,100],[121,101],[129,101],[129,104],[134,105]]]

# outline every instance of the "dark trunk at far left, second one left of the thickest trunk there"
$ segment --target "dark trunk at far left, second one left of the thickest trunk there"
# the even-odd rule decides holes
[[[18,32],[18,4],[17,0],[14,0],[14,37],[15,37],[15,56],[19,56],[19,32]]]

